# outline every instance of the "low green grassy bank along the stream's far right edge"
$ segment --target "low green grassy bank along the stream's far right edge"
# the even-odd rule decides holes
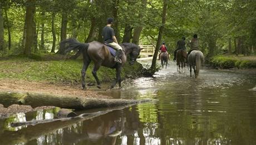
[[[256,56],[215,56],[210,59],[209,64],[220,68],[256,68]]]

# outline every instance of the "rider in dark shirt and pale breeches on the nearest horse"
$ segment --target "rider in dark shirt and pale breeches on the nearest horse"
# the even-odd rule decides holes
[[[116,49],[116,56],[114,61],[117,63],[122,63],[122,47],[118,44],[114,29],[111,28],[112,24],[114,23],[114,18],[107,18],[107,26],[105,26],[102,30],[102,36],[104,43],[108,46]]]

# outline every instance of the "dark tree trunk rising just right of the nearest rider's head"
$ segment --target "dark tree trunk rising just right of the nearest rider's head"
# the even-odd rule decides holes
[[[115,21],[114,21],[114,30],[115,30],[115,34],[116,34],[116,39],[117,39],[117,42],[120,42],[120,32],[119,32],[119,19],[118,19],[118,8],[119,8],[119,0],[115,0],[114,1],[114,5],[113,5],[113,16],[115,18]]]

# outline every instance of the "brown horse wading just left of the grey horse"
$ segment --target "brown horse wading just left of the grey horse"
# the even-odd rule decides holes
[[[176,58],[177,58],[177,71],[179,73],[183,72],[183,70],[185,70],[186,68],[186,57],[187,57],[187,53],[185,49],[179,49],[176,53]],[[181,65],[181,71],[180,71],[180,65]],[[179,68],[178,68],[179,66]]]

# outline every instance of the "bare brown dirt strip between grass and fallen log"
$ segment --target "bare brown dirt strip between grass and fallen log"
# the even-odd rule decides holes
[[[31,82],[31,81],[14,81],[11,79],[0,80],[1,91],[21,91],[32,93],[44,93],[44,94],[58,94],[58,95],[71,95],[81,97],[93,97],[93,98],[109,98],[97,94],[96,92],[81,89],[80,84],[71,83],[51,83],[51,82]]]

